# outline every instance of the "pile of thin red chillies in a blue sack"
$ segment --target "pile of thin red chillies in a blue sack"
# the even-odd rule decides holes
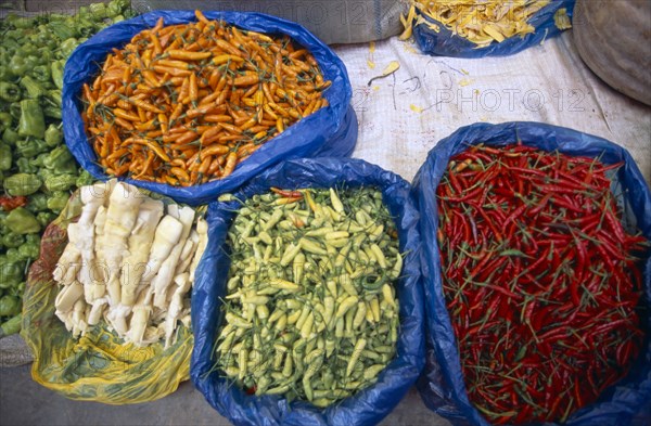
[[[640,351],[649,245],[618,218],[620,166],[475,145],[442,178],[444,294],[470,401],[494,424],[563,422]]]

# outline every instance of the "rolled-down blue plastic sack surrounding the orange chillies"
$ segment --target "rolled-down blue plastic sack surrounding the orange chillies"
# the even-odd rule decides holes
[[[175,188],[162,183],[125,179],[190,205],[206,204],[217,195],[232,191],[245,181],[283,159],[310,156],[349,156],[357,143],[357,117],[350,103],[350,82],[346,67],[336,54],[298,24],[259,13],[205,12],[208,20],[224,20],[241,28],[265,34],[284,34],[308,49],[315,56],[323,78],[332,86],[323,92],[330,106],[305,117],[284,132],[264,144],[250,158],[242,162],[229,177],[189,188]],[[165,25],[194,22],[192,11],[154,11],[123,21],[100,31],[80,44],[68,59],[64,69],[63,131],[66,144],[77,162],[97,179],[106,180],[97,155],[88,143],[79,113],[79,96],[84,82],[92,81],[106,54],[122,48],[138,33],[151,28],[163,17]]]

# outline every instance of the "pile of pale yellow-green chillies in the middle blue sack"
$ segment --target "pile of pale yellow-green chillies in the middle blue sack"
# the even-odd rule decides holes
[[[279,190],[242,204],[217,367],[255,395],[328,406],[393,359],[403,256],[382,193]]]

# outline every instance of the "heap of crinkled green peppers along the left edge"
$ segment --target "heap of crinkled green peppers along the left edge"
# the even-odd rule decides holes
[[[92,183],[63,141],[63,68],[100,29],[131,17],[130,1],[74,15],[8,15],[0,21],[0,337],[21,328],[22,295],[40,235],[71,193]]]

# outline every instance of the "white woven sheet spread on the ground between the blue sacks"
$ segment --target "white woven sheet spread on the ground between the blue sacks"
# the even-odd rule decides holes
[[[596,77],[572,31],[503,57],[430,56],[397,37],[337,46],[359,121],[354,157],[408,181],[435,144],[477,121],[541,121],[605,138],[627,149],[651,182],[651,107]],[[374,80],[398,61],[393,75]]]

